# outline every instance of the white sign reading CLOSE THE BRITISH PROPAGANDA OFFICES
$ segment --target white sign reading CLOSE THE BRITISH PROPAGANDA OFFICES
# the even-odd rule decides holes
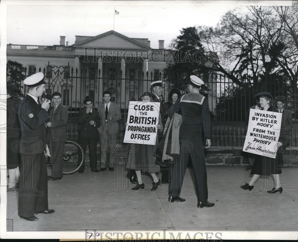
[[[123,143],[155,145],[159,102],[130,101]]]

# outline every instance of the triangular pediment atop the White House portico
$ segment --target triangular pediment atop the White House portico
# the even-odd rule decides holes
[[[87,38],[73,47],[96,47],[96,48],[112,48],[112,49],[150,49],[150,47],[137,42],[123,34],[119,34],[113,30],[103,34]]]

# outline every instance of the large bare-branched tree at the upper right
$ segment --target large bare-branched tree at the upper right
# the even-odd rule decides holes
[[[297,1],[292,7],[250,6],[246,11],[227,12],[215,28],[199,26],[204,47],[214,55],[222,51],[221,61],[213,62],[208,69],[224,74],[239,86],[280,80],[275,78],[280,75],[296,84],[297,9]]]

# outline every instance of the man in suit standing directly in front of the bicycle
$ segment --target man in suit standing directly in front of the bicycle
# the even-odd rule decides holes
[[[49,127],[48,142],[50,150],[50,161],[52,165],[52,175],[48,180],[60,180],[62,177],[62,159],[65,142],[67,140],[66,125],[68,121],[68,110],[61,104],[61,93],[52,94],[54,108],[50,111],[50,122],[46,125]]]

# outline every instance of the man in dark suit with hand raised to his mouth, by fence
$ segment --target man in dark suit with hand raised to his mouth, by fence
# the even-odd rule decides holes
[[[93,101],[90,98],[84,100],[86,109],[81,109],[78,114],[80,123],[79,142],[83,145],[85,152],[89,145],[90,169],[91,172],[99,172],[97,169],[97,128],[100,127],[100,117],[96,110],[93,109]],[[79,173],[85,170],[85,161],[79,169]]]

